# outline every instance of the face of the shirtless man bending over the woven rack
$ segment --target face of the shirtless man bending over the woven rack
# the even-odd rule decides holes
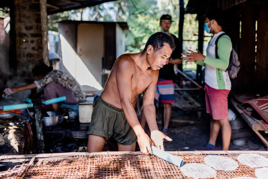
[[[157,50],[155,52],[153,50],[153,47],[149,45],[149,47],[147,48],[147,53],[147,61],[152,70],[159,70],[166,64],[166,61],[170,58],[172,49],[170,48],[169,44],[165,43],[160,50]]]

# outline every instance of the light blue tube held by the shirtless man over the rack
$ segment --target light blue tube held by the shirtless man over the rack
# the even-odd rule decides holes
[[[168,162],[170,162],[174,165],[177,165],[179,167],[183,166],[183,159],[182,158],[175,156],[175,155],[172,155],[172,154],[165,152],[161,149],[158,149],[155,146],[151,146],[151,149],[152,149],[153,155],[158,156],[159,158],[162,158],[163,160],[168,161]]]

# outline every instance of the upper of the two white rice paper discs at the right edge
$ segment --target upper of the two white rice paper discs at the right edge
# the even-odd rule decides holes
[[[251,168],[267,167],[268,159],[259,154],[240,154],[237,160]]]

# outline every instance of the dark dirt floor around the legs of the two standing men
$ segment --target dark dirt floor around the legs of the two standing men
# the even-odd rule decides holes
[[[242,120],[241,120],[242,121]],[[158,114],[157,123],[159,129],[162,129],[161,115]],[[231,125],[232,125],[231,121]],[[242,139],[246,141],[246,145],[238,147],[230,144],[230,150],[267,150],[257,135],[244,122],[243,127],[238,130],[232,130],[233,139]],[[166,151],[194,151],[208,143],[210,119],[202,112],[201,118],[198,118],[197,112],[183,112],[177,108],[172,109],[172,117],[169,129],[166,135],[173,141],[165,141],[164,148]],[[149,134],[149,128],[146,128]],[[220,132],[221,133],[221,132]],[[222,150],[221,134],[217,139],[216,150]]]

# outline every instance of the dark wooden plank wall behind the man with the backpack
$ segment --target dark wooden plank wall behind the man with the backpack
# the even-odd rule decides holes
[[[233,4],[238,2],[233,0]],[[225,10],[226,33],[230,36],[241,62],[238,77],[232,81],[232,91],[235,93],[268,91],[267,9],[268,1],[247,0]]]

